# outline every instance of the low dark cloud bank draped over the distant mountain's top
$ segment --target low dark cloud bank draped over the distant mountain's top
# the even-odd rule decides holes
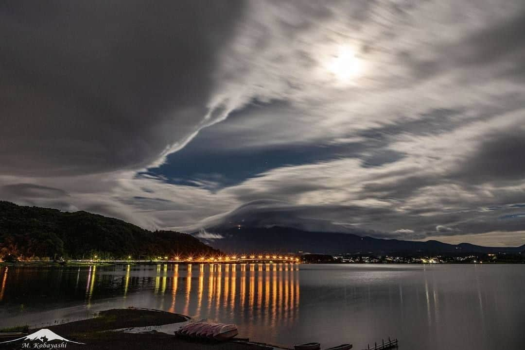
[[[246,227],[286,226],[306,231],[342,232],[378,238],[424,239],[432,236],[458,236],[486,232],[516,232],[523,229],[525,215],[508,215],[501,222],[497,215],[479,215],[475,211],[446,212],[419,216],[406,212],[400,216],[395,210],[356,205],[297,205],[278,200],[255,200],[235,210],[207,220],[207,228],[219,229],[243,225]],[[499,222],[498,222],[499,221]],[[383,229],[372,228],[382,227]],[[386,231],[386,227],[398,229]],[[402,228],[410,226],[416,228]]]

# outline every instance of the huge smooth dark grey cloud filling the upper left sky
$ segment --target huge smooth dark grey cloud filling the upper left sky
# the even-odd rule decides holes
[[[0,6],[0,171],[40,176],[143,167],[184,143],[241,13],[236,1]]]

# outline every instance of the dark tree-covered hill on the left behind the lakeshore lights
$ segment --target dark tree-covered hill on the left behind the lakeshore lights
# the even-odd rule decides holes
[[[152,259],[217,254],[198,238],[85,211],[61,212],[0,201],[0,257]]]

